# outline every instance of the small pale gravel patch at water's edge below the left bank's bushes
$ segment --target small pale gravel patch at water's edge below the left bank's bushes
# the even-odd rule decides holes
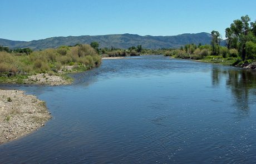
[[[50,75],[48,73],[40,73],[36,75],[29,76],[28,79],[25,80],[28,84],[37,84],[37,85],[50,85],[50,86],[58,86],[58,85],[68,85],[70,81],[66,79]]]

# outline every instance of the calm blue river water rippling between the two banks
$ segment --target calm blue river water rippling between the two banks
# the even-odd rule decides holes
[[[11,86],[53,119],[0,145],[0,163],[256,163],[256,72],[142,56],[72,76]]]

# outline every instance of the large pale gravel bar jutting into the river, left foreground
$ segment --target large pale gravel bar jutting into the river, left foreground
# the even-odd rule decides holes
[[[28,135],[50,118],[45,102],[36,96],[0,90],[0,144]]]

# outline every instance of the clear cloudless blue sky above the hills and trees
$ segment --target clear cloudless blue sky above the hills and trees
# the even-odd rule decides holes
[[[248,14],[256,1],[1,0],[0,38],[31,41],[55,36],[132,33],[173,36],[219,31]]]

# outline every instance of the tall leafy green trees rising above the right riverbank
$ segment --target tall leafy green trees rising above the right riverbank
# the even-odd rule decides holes
[[[211,32],[211,46],[213,54],[220,54],[220,33],[218,31]],[[242,61],[246,59],[256,59],[256,21],[250,22],[248,15],[235,19],[230,27],[225,29],[225,37],[227,38],[226,47],[229,51],[237,51]],[[233,50],[232,50],[233,49]]]

